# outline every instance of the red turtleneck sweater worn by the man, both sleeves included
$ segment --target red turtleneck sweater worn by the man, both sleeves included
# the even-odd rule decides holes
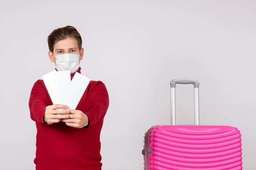
[[[36,170],[101,170],[100,133],[109,105],[106,86],[101,81],[90,81],[76,107],[89,118],[86,128],[77,129],[64,122],[45,124],[45,107],[49,105],[53,103],[45,84],[38,80],[29,98],[30,116],[37,128]]]

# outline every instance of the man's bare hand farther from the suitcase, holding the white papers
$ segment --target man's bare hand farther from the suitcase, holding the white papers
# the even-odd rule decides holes
[[[61,119],[67,119],[69,118],[69,110],[68,106],[66,105],[61,105],[61,104],[54,104],[54,105],[49,105],[45,108],[45,122],[47,124],[53,124],[53,123],[58,123],[61,121]],[[58,109],[58,110],[56,110]],[[64,114],[64,115],[59,115],[59,114]]]

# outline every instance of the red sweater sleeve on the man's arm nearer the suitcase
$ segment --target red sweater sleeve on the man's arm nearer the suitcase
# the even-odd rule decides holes
[[[85,104],[85,114],[90,121],[89,126],[92,126],[97,122],[102,122],[109,106],[109,97],[106,86],[101,81],[97,81],[95,84],[96,85],[92,88]]]

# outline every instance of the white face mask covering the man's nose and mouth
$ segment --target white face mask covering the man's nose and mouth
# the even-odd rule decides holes
[[[56,57],[56,69],[58,71],[66,71],[70,70],[70,73],[76,72],[79,67],[79,57],[80,54],[70,54],[70,53],[65,53],[65,54],[60,54],[60,55],[53,55]]]

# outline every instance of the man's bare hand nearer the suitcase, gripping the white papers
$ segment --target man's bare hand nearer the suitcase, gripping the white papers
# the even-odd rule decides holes
[[[75,128],[83,128],[88,125],[88,116],[80,110],[67,109],[70,111],[68,119],[62,119],[62,122],[65,122],[67,126]]]

